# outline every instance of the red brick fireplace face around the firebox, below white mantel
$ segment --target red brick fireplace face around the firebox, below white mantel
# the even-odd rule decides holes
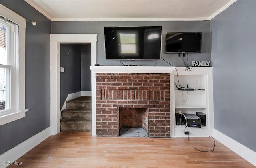
[[[170,137],[170,74],[96,73],[96,134],[118,136],[118,108],[147,108],[150,137]]]

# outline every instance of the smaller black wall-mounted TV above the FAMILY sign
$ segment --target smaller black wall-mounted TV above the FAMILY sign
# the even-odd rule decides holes
[[[200,53],[202,32],[166,33],[166,53]]]

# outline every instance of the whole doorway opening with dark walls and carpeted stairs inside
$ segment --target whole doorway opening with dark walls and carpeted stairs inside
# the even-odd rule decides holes
[[[61,132],[91,132],[90,65],[91,44],[60,44]]]

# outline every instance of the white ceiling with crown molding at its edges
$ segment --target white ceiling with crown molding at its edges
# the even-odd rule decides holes
[[[236,0],[25,0],[52,21],[211,20]]]

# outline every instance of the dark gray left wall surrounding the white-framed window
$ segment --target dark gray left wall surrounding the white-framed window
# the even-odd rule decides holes
[[[26,117],[0,126],[0,154],[50,126],[51,21],[28,3],[1,0],[12,10],[36,21],[26,24]]]

